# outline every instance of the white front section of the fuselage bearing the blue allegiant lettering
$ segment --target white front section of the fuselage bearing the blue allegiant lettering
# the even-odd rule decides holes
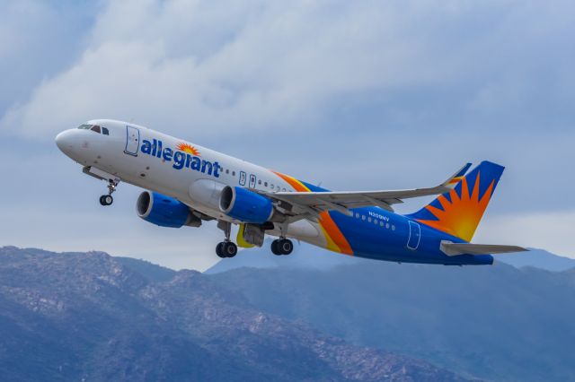
[[[57,145],[84,168],[98,169],[123,182],[172,196],[193,210],[221,221],[234,221],[219,208],[219,191],[226,186],[266,192],[295,191],[270,169],[243,161],[144,126],[115,120],[87,124],[106,128],[109,135],[70,129],[57,135]],[[279,236],[279,227],[266,231]],[[285,236],[320,247],[327,240],[319,224],[296,221]]]

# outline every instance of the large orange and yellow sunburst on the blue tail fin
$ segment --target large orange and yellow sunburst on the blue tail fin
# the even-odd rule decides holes
[[[445,195],[439,195],[438,201],[443,210],[431,204],[427,205],[425,208],[438,219],[437,221],[419,219],[418,221],[437,230],[447,232],[457,238],[471,241],[477,229],[477,225],[479,221],[481,221],[483,213],[487,208],[487,204],[489,204],[495,184],[495,180],[491,181],[491,185],[480,198],[479,179],[480,173],[478,172],[471,195],[469,195],[466,177],[461,179],[461,195],[457,194],[456,189],[452,189],[449,192],[449,199],[451,199],[451,201],[449,201]]]

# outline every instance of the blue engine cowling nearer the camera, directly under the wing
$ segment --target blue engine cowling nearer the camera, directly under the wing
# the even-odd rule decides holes
[[[247,223],[262,224],[270,221],[273,214],[270,199],[243,187],[224,187],[219,208],[222,213]]]

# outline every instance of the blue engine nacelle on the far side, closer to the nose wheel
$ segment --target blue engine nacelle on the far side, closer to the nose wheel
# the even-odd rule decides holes
[[[190,207],[173,197],[144,191],[137,198],[137,216],[161,227],[180,228],[183,225],[199,227],[201,220],[191,213]]]

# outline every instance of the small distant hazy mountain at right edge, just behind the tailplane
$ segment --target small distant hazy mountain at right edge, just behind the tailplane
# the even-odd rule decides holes
[[[516,268],[534,266],[547,271],[562,272],[575,268],[575,259],[554,255],[544,249],[530,248],[528,252],[518,254],[501,254],[497,260],[513,265]]]

